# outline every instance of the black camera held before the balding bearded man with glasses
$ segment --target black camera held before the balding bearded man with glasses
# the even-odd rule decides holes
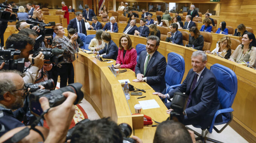
[[[30,88],[29,92],[35,92],[36,90],[40,89],[39,85],[45,87],[45,89],[53,89],[55,87],[54,81],[49,79],[36,84],[27,83],[25,84],[25,88]]]

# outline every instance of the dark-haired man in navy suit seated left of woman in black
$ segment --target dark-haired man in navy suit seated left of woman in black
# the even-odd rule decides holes
[[[166,42],[173,42],[183,46],[182,33],[178,31],[178,24],[173,23],[170,26],[170,32],[167,33]]]

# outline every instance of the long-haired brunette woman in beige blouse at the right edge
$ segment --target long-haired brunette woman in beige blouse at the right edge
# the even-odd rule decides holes
[[[255,66],[256,40],[253,33],[244,33],[242,44],[236,47],[229,60],[243,64],[249,62],[249,65]]]

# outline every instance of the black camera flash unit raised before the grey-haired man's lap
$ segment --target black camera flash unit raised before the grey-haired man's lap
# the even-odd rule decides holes
[[[182,122],[184,120],[184,110],[187,106],[188,95],[180,92],[175,92],[173,100],[171,101],[171,108],[173,111],[170,113],[170,117],[167,120],[174,120],[176,122]]]

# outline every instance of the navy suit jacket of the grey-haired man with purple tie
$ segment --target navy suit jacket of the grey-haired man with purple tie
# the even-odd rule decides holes
[[[185,92],[186,95],[190,95],[195,74],[196,72],[190,69],[181,86],[168,93],[170,98],[173,98],[175,92]],[[205,68],[191,93],[191,102],[185,109],[188,120],[190,118],[198,119],[202,129],[211,125],[214,114],[220,107],[217,90],[217,80],[214,74]],[[221,116],[217,116],[216,121],[221,122],[221,120]]]

